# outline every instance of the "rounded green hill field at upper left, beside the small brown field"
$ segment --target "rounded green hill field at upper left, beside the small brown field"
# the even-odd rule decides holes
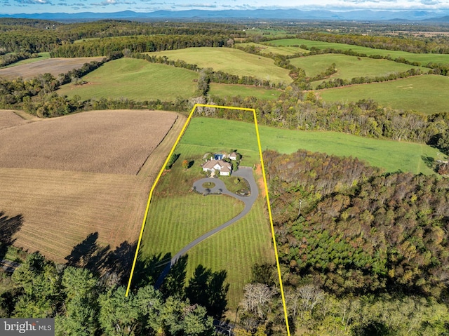
[[[58,94],[81,99],[128,98],[132,100],[175,100],[189,98],[196,90],[199,74],[191,70],[121,58],[105,63],[83,77],[82,86],[66,84]]]

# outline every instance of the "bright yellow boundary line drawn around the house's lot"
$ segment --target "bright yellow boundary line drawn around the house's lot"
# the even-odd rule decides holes
[[[285,295],[283,293],[281,266],[279,264],[278,248],[277,248],[277,244],[276,244],[276,236],[274,235],[272,207],[269,204],[267,177],[265,176],[264,159],[263,159],[263,156],[262,156],[262,146],[260,145],[259,127],[257,126],[257,116],[256,116],[256,113],[255,113],[255,109],[248,109],[246,107],[231,107],[231,106],[208,105],[208,104],[195,104],[194,105],[194,107],[192,108],[192,111],[190,112],[190,114],[189,114],[189,116],[187,118],[187,121],[185,122],[184,126],[182,126],[182,130],[181,130],[180,134],[177,136],[175,144],[173,145],[172,149],[170,150],[170,154],[168,154],[166,161],[163,163],[163,166],[162,166],[161,170],[159,171],[159,174],[156,177],[156,180],[154,180],[152,189],[150,189],[150,191],[149,191],[149,196],[148,196],[148,201],[147,201],[147,208],[145,209],[145,216],[143,218],[142,227],[140,228],[140,235],[139,235],[138,246],[135,249],[133,267],[131,267],[131,273],[130,273],[130,276],[129,276],[128,287],[126,288],[125,296],[128,296],[129,290],[130,290],[130,286],[131,286],[131,281],[133,281],[133,274],[134,274],[134,269],[135,269],[135,263],[138,260],[138,253],[139,253],[139,249],[140,249],[140,243],[142,242],[143,229],[145,228],[145,223],[147,222],[149,203],[150,203],[150,201],[152,199],[153,191],[156,188],[157,182],[159,182],[159,179],[161,178],[163,170],[165,170],[165,167],[167,166],[168,160],[170,160],[171,156],[173,155],[173,152],[175,152],[175,147],[180,142],[180,139],[181,139],[182,135],[184,134],[185,129],[189,125],[190,119],[192,119],[192,116],[193,116],[193,114],[194,114],[194,112],[196,110],[196,107],[215,107],[217,109],[240,109],[242,111],[253,112],[255,133],[256,133],[256,136],[257,136],[257,146],[259,147],[260,165],[262,166],[262,175],[264,177],[265,194],[267,195],[267,207],[268,207],[268,215],[269,215],[269,224],[270,224],[270,227],[272,228],[274,255],[276,256],[276,267],[277,267],[277,270],[278,270],[279,285],[280,285],[280,288],[281,288],[283,314],[284,314],[284,318],[285,318],[285,321],[286,321],[287,335],[290,336],[290,328],[288,326],[288,314],[287,314],[287,306],[286,306],[286,297],[285,297]]]

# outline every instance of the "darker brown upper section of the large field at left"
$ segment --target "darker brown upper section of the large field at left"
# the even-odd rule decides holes
[[[91,111],[0,129],[0,167],[136,175],[176,119],[172,112]]]

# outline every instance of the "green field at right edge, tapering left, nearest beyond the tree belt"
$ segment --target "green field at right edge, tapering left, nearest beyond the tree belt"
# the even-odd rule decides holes
[[[425,75],[316,92],[328,102],[346,103],[373,99],[385,107],[434,114],[449,111],[448,88],[448,76]]]

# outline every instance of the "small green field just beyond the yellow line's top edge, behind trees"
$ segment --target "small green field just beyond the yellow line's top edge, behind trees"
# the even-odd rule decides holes
[[[209,95],[216,95],[220,98],[241,96],[276,100],[281,95],[280,90],[261,88],[258,86],[210,83],[209,87]]]

